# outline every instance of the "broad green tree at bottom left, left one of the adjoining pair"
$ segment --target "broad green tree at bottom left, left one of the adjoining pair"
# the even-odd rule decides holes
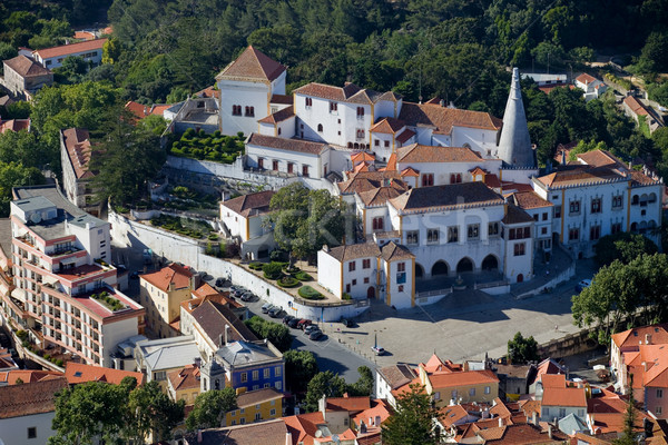
[[[97,437],[115,441],[127,421],[128,392],[120,385],[89,382],[65,388],[56,396],[49,444],[92,444]]]

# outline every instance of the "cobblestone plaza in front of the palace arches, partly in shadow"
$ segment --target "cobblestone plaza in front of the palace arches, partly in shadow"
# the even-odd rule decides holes
[[[418,364],[434,352],[443,359],[460,362],[495,358],[507,353],[508,339],[519,330],[532,335],[539,344],[574,333],[571,296],[574,285],[591,278],[591,260],[579,260],[576,276],[553,289],[527,299],[512,295],[491,296],[479,290],[462,290],[441,301],[406,310],[394,310],[374,301],[353,328],[332,326],[328,333],[353,352],[377,364]],[[338,330],[341,329],[341,330]],[[377,343],[386,349],[375,357],[371,347]]]

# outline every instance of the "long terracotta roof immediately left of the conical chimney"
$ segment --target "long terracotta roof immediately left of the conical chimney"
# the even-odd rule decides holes
[[[404,102],[401,107],[399,119],[412,127],[434,127],[435,132],[446,135],[452,132],[452,127],[469,127],[485,130],[499,130],[501,128],[501,120],[492,117],[489,112],[460,110],[432,103]]]

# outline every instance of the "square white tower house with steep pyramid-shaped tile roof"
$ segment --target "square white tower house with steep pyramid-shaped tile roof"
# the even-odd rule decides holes
[[[216,76],[220,91],[220,131],[256,132],[257,121],[272,113],[272,97],[285,95],[286,68],[249,46]],[[278,106],[276,106],[278,108]]]

